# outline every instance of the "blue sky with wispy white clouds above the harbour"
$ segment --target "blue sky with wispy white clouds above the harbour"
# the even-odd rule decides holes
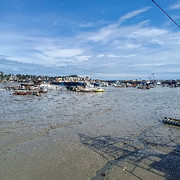
[[[180,25],[180,0],[155,0]],[[0,0],[0,71],[180,79],[180,28],[152,0]]]

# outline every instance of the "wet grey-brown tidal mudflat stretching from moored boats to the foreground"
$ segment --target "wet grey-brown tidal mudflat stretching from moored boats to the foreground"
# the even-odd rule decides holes
[[[180,88],[106,90],[0,91],[0,179],[176,179]]]

